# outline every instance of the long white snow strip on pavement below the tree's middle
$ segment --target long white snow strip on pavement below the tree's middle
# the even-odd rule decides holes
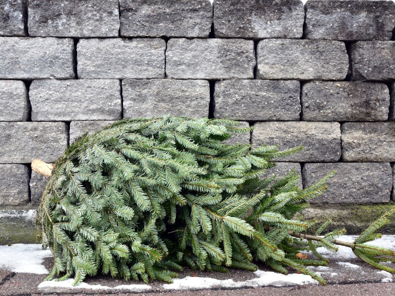
[[[257,270],[254,272],[259,276],[255,279],[242,282],[235,282],[233,279],[217,280],[204,277],[187,276],[183,279],[174,280],[173,284],[164,284],[162,287],[166,290],[184,290],[184,289],[209,289],[216,288],[238,288],[238,287],[262,287],[262,286],[291,286],[318,284],[310,275],[304,274],[281,274],[273,271]]]

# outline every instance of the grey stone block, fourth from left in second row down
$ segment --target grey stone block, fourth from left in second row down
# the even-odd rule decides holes
[[[260,79],[343,80],[349,68],[344,42],[265,39],[258,43]]]

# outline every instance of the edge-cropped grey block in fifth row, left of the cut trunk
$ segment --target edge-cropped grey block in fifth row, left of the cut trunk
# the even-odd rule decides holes
[[[0,206],[29,202],[29,170],[23,164],[0,164]]]

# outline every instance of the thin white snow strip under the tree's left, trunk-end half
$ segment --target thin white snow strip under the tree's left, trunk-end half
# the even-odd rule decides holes
[[[89,289],[89,290],[128,290],[133,292],[143,292],[151,290],[151,286],[137,284],[137,285],[120,285],[116,287],[108,287],[102,285],[90,285],[87,283],[80,283],[78,286],[73,286],[74,279],[67,279],[64,281],[57,282],[55,280],[45,281],[40,283],[37,287],[39,289],[45,288],[67,288],[67,289]]]

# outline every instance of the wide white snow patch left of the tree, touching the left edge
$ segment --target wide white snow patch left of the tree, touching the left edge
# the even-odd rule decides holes
[[[52,257],[51,251],[42,250],[40,244],[0,246],[0,269],[46,274],[48,270],[42,263],[47,257]]]

